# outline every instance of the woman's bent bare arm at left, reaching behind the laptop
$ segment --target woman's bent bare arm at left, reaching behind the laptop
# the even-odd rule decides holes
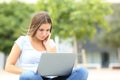
[[[15,64],[20,56],[21,50],[17,44],[14,44],[12,50],[7,58],[5,71],[20,74],[25,71],[22,68],[17,67]]]

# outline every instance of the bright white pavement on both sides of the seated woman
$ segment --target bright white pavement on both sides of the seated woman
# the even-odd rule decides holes
[[[120,80],[120,69],[89,69],[88,80]],[[0,70],[0,80],[19,80],[19,75]]]

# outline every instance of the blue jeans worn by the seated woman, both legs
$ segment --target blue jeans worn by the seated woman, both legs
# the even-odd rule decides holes
[[[87,80],[88,71],[85,68],[77,68],[69,76],[58,76],[50,79],[40,76],[33,71],[26,71],[20,75],[19,80]]]

